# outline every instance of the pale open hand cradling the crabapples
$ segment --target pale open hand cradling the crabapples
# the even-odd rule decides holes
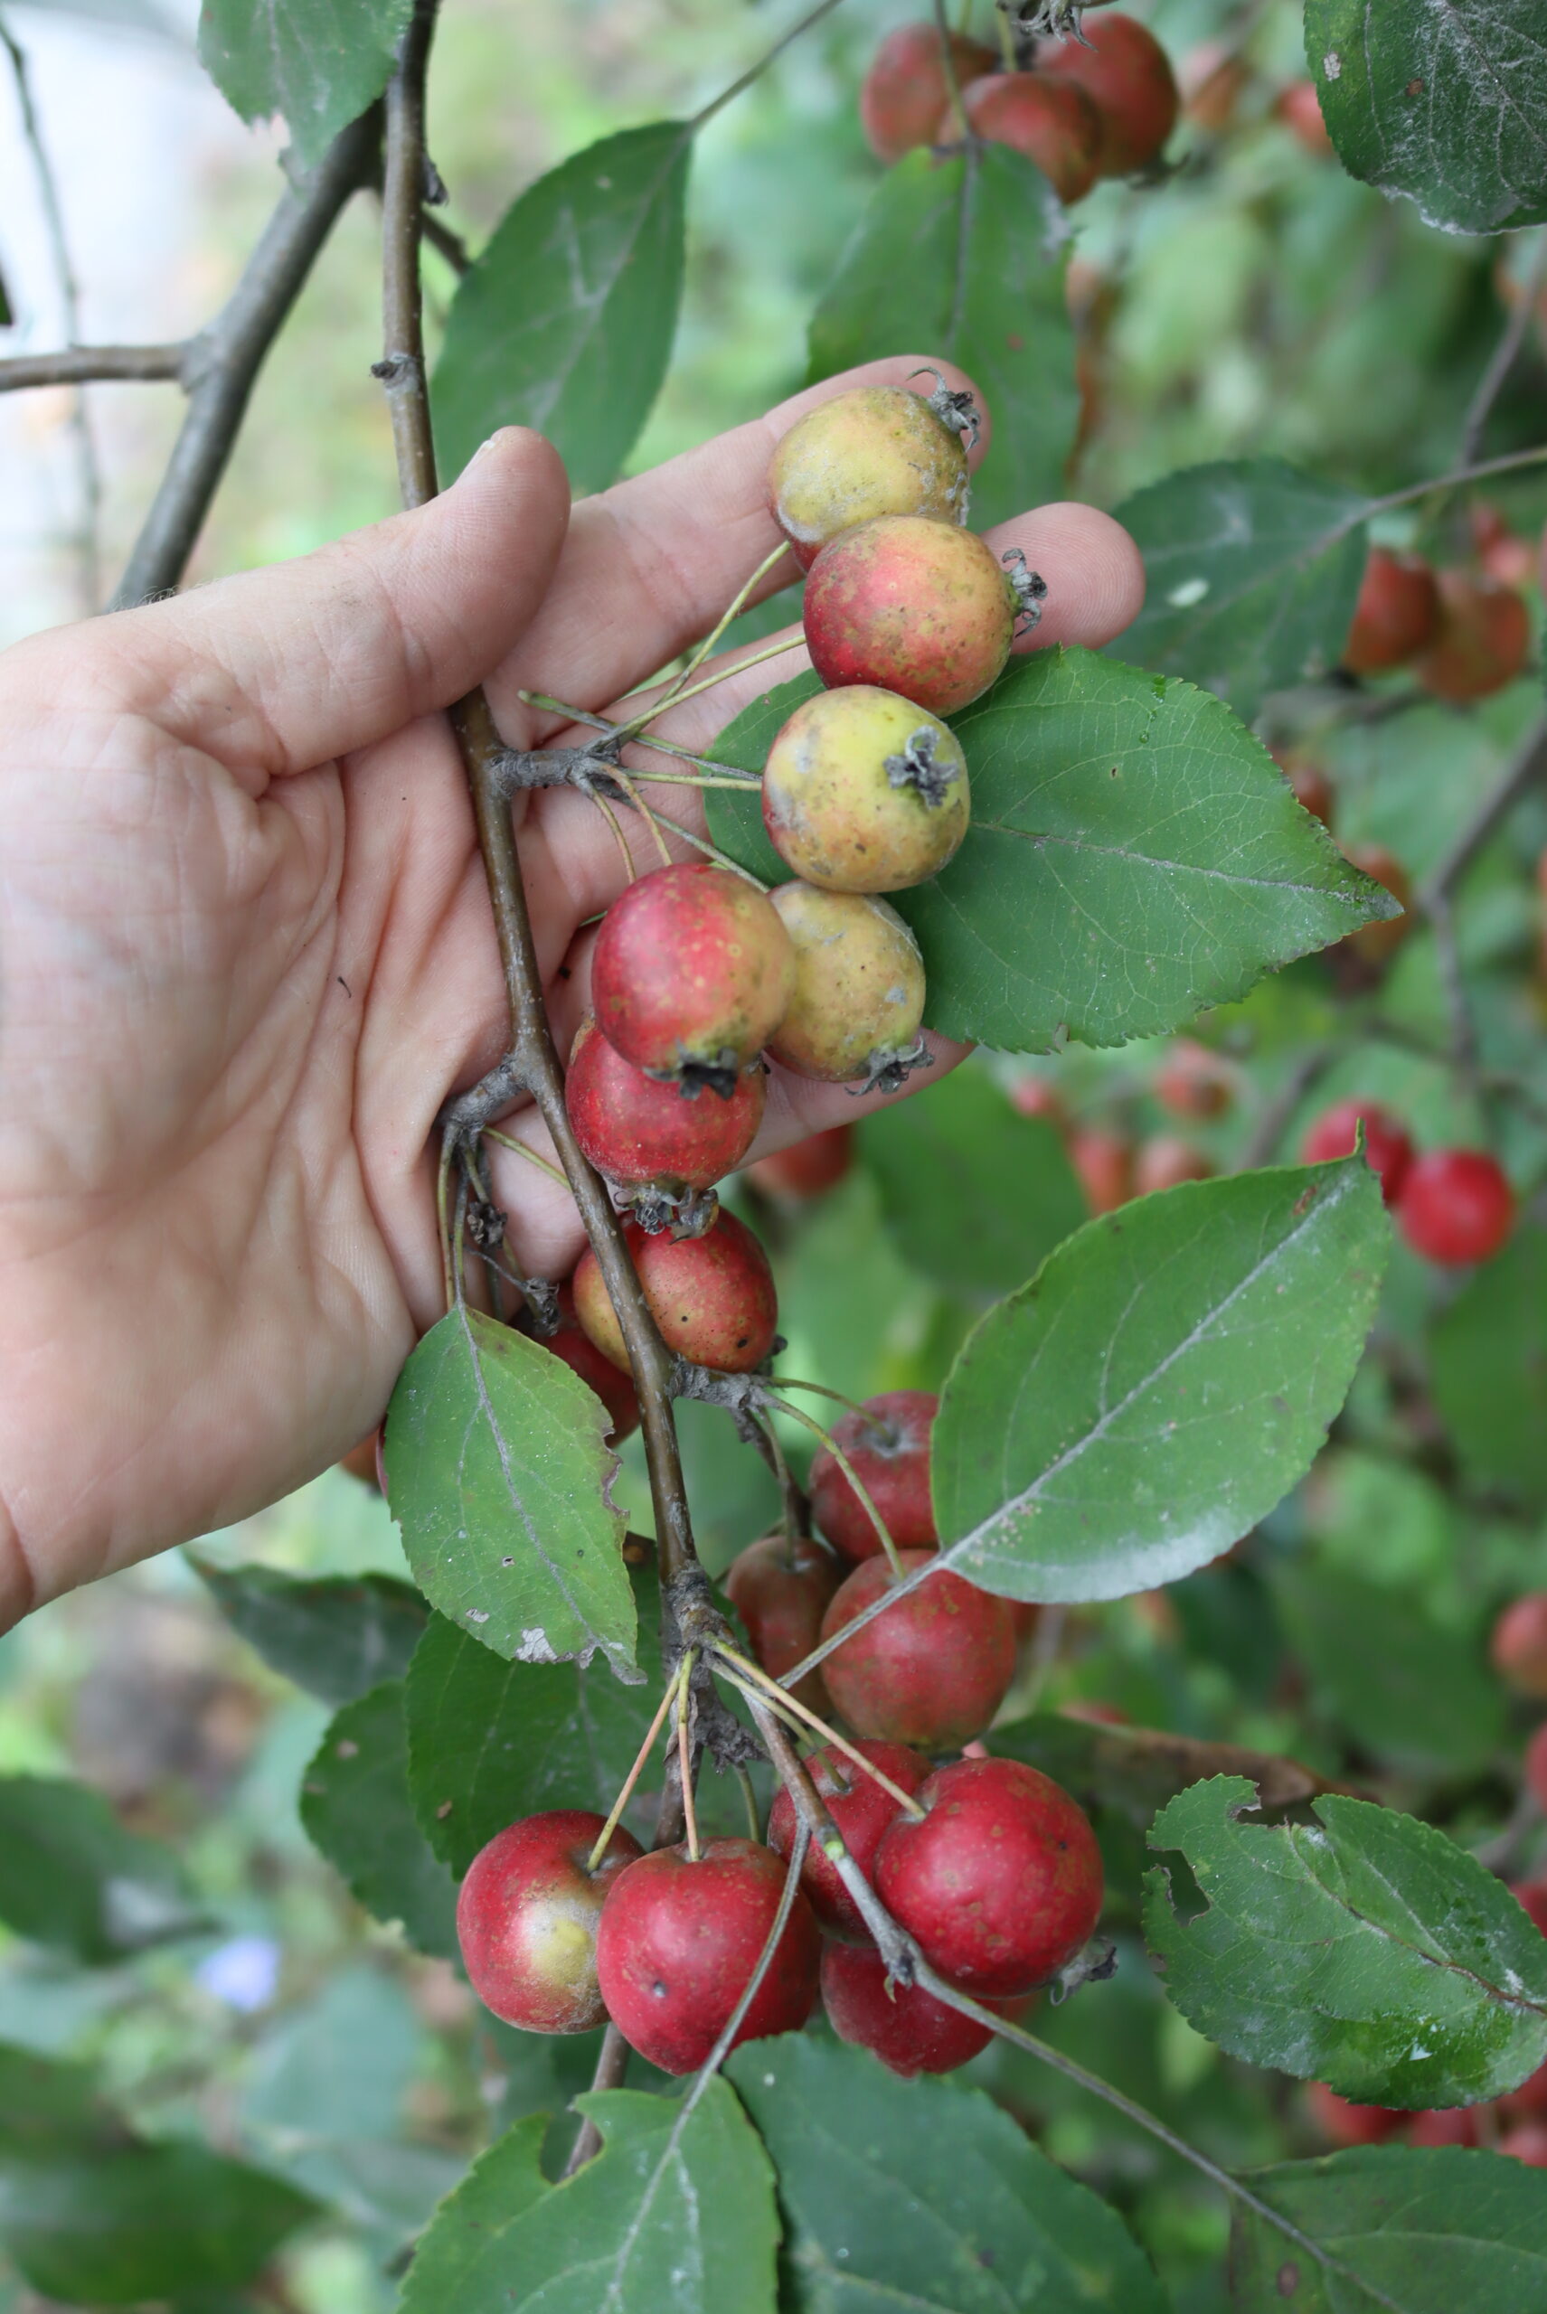
[[[380,1421],[442,1310],[435,1113],[505,1048],[440,710],[484,680],[512,745],[579,740],[519,690],[607,710],[709,632],[778,544],[774,440],[924,359],[574,509],[549,444],[507,430],[417,514],[0,657],[0,1627],[273,1502]],[[1105,514],[989,537],[1049,581],[1038,648],[1135,618],[1142,565]],[[801,664],[662,731],[709,747]],[[648,794],[702,828],[695,791]],[[644,872],[660,854],[621,819]],[[563,1053],[623,858],[572,789],[523,796],[516,826]],[[776,1069],[757,1155],[866,1106]],[[549,1150],[530,1111],[505,1129]],[[567,1275],[567,1194],[491,1155],[516,1266]]]

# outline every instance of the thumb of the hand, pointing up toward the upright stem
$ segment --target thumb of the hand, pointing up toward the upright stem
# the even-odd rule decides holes
[[[482,683],[537,611],[567,521],[558,451],[507,426],[412,514],[118,611],[97,634],[123,659],[130,706],[278,778],[368,747]]]

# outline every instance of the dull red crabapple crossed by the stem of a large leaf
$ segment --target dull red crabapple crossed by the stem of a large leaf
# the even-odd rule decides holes
[[[929,1550],[901,1550],[903,1576],[931,1557]],[[889,1587],[887,1562],[864,1560],[827,1608],[822,1638],[836,1638]],[[1003,1599],[940,1569],[836,1648],[822,1675],[857,1736],[956,1752],[982,1736],[1005,1701],[1014,1678],[1014,1622]]]

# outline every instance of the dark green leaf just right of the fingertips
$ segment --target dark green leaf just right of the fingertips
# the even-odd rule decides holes
[[[1364,574],[1364,500],[1251,458],[1190,465],[1116,509],[1149,592],[1123,657],[1186,676],[1248,722],[1339,664]]]

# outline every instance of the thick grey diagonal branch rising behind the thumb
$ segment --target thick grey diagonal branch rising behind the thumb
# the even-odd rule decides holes
[[[303,185],[287,185],[225,310],[188,347],[188,414],[111,609],[174,588],[220,486],[289,308],[350,194],[371,183],[380,113],[350,123]]]

